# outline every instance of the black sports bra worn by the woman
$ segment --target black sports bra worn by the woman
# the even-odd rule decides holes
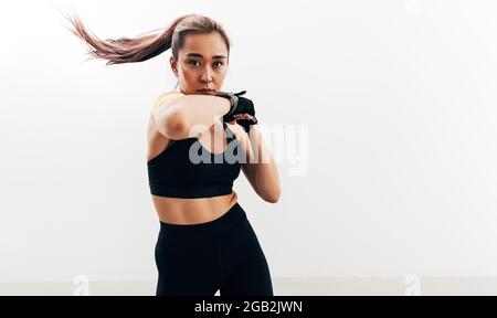
[[[240,176],[241,160],[234,134],[223,123],[226,149],[212,153],[197,137],[172,140],[157,157],[148,160],[148,180],[154,195],[208,198],[232,193]]]

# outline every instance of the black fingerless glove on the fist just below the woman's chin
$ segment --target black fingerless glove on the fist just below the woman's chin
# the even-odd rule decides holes
[[[254,103],[252,103],[251,99],[245,98],[245,97],[241,97],[242,95],[244,95],[246,93],[246,91],[242,91],[239,93],[225,93],[225,92],[216,92],[214,94],[214,96],[219,96],[219,97],[224,97],[230,99],[231,102],[231,107],[230,107],[230,112],[228,112],[228,114],[225,114],[223,116],[223,121],[231,121],[234,118],[234,115],[237,114],[248,114],[251,116],[253,116],[254,118],[252,119],[239,119],[236,120],[236,123],[243,127],[243,129],[248,132],[251,125],[256,125],[257,124],[257,118],[255,118],[255,108],[254,108]]]

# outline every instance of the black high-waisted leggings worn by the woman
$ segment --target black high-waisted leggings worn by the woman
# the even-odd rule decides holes
[[[266,257],[239,203],[207,223],[160,222],[155,254],[157,296],[273,296]]]

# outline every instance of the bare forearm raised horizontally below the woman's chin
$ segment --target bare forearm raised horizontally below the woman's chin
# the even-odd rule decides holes
[[[178,100],[177,117],[183,138],[194,137],[214,125],[215,118],[230,110],[230,100],[210,95],[186,95]]]

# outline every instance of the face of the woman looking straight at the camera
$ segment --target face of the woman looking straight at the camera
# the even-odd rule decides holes
[[[229,61],[226,44],[219,33],[187,35],[178,60],[171,56],[170,64],[183,94],[212,95],[222,91]],[[199,91],[203,88],[212,91]]]

